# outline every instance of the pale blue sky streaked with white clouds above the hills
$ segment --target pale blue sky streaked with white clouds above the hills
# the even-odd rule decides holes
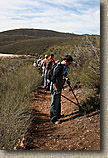
[[[0,1],[0,32],[19,28],[100,34],[100,1]]]

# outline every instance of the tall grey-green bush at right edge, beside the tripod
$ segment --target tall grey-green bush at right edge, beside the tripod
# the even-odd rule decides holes
[[[97,38],[86,38],[82,45],[75,47],[74,65],[69,74],[73,87],[82,89],[83,104],[86,103],[87,111],[90,110],[90,107],[94,108],[94,105],[95,107],[97,105],[97,109],[100,108],[99,42]]]

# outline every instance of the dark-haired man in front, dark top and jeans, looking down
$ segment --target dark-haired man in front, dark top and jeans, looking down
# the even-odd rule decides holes
[[[66,76],[69,70],[69,65],[72,63],[73,58],[70,55],[66,55],[61,63],[58,63],[53,70],[51,77],[51,107],[50,107],[50,121],[53,124],[61,123],[61,91],[64,84],[64,76]]]

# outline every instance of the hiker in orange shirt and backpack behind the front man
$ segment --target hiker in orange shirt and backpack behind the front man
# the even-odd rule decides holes
[[[48,59],[46,59],[43,63],[43,66],[45,66],[45,73],[44,73],[44,88],[46,90],[49,90],[50,88],[50,81],[48,80],[48,87],[47,87],[47,73],[48,73],[48,70],[51,69],[52,65],[55,64],[55,61],[54,61],[54,54],[51,54],[50,57]]]

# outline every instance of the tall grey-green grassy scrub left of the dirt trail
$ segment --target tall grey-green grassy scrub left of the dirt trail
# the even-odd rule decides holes
[[[0,149],[12,150],[31,123],[30,94],[41,84],[41,76],[30,61],[1,63]]]

